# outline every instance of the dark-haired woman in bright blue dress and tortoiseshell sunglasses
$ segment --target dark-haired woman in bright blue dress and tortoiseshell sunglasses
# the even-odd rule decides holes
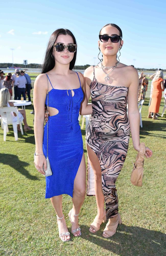
[[[72,233],[80,236],[78,215],[85,198],[86,165],[81,130],[78,122],[81,115],[91,114],[87,105],[84,77],[72,69],[77,54],[76,39],[68,29],[57,29],[50,37],[42,72],[34,84],[34,135],[35,167],[44,174],[47,168],[47,125],[48,157],[52,175],[46,177],[45,198],[50,198],[57,214],[59,236],[62,241],[70,240],[62,211],[62,194],[72,197],[73,208],[68,216]],[[44,126],[45,104],[49,81],[49,119]],[[44,128],[43,128],[44,126]]]

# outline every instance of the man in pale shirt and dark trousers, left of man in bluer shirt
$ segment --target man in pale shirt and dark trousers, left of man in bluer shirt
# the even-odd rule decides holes
[[[22,94],[24,100],[26,100],[26,96],[25,96],[26,83],[27,83],[27,80],[24,76],[24,72],[21,70],[19,72],[19,76],[16,77],[16,79],[15,79],[15,84],[18,87],[17,88],[18,100],[21,100],[21,94]]]

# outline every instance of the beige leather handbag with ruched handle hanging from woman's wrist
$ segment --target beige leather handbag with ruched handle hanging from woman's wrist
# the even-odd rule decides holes
[[[131,183],[135,186],[142,187],[144,156],[146,152],[145,143],[140,143],[139,153],[136,156],[136,161],[131,174]]]

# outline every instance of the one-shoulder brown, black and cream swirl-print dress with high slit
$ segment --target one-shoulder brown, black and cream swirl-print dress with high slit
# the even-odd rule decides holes
[[[109,219],[118,213],[115,182],[128,150],[130,136],[126,111],[128,87],[101,84],[94,74],[90,92],[93,112],[87,126],[86,141],[100,162],[106,218]],[[94,195],[94,174],[89,160],[87,195]]]

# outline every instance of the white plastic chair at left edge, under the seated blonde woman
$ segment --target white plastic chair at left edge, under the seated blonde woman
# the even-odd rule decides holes
[[[16,113],[16,115],[17,115],[17,121],[16,122],[13,122],[11,112]],[[6,141],[6,133],[9,131],[8,130],[8,124],[13,125],[14,137],[15,137],[15,140],[17,141],[18,140],[17,124],[20,125],[21,134],[23,135],[22,123],[21,123],[21,121],[19,121],[19,118],[18,118],[18,109],[15,108],[15,107],[1,108],[0,109],[0,115],[2,117],[3,126],[4,126],[4,141]]]

